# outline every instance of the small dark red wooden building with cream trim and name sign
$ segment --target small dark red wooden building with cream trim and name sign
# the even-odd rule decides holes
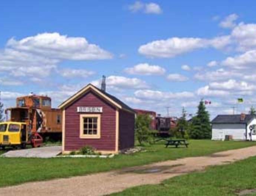
[[[85,86],[59,108],[63,153],[85,145],[103,154],[134,147],[134,110],[94,85]]]

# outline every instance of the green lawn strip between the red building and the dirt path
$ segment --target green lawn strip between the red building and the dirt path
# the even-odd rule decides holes
[[[147,152],[117,155],[114,158],[0,158],[0,187],[26,181],[78,176],[121,169],[152,162],[203,156],[214,152],[256,145],[255,142],[189,140],[189,148],[166,149],[163,143],[145,147]]]

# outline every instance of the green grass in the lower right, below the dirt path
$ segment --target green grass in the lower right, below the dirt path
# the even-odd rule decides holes
[[[208,167],[206,172],[195,172],[163,181],[159,185],[143,185],[113,196],[232,196],[247,189],[256,189],[256,157],[230,165]],[[248,195],[256,195],[256,192]]]

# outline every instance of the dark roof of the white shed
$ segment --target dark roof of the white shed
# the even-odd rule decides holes
[[[253,118],[256,118],[256,115],[245,114],[245,120],[241,120],[241,114],[234,115],[218,115],[216,116],[211,123],[224,123],[224,124],[246,124],[250,122]]]

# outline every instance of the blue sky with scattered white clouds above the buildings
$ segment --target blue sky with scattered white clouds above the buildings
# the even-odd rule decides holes
[[[0,90],[47,94],[56,107],[107,76],[128,105],[211,117],[255,104],[253,1],[5,1],[0,7]],[[255,57],[255,58],[254,58]],[[237,98],[244,98],[237,104]],[[256,106],[256,105],[255,105]]]

